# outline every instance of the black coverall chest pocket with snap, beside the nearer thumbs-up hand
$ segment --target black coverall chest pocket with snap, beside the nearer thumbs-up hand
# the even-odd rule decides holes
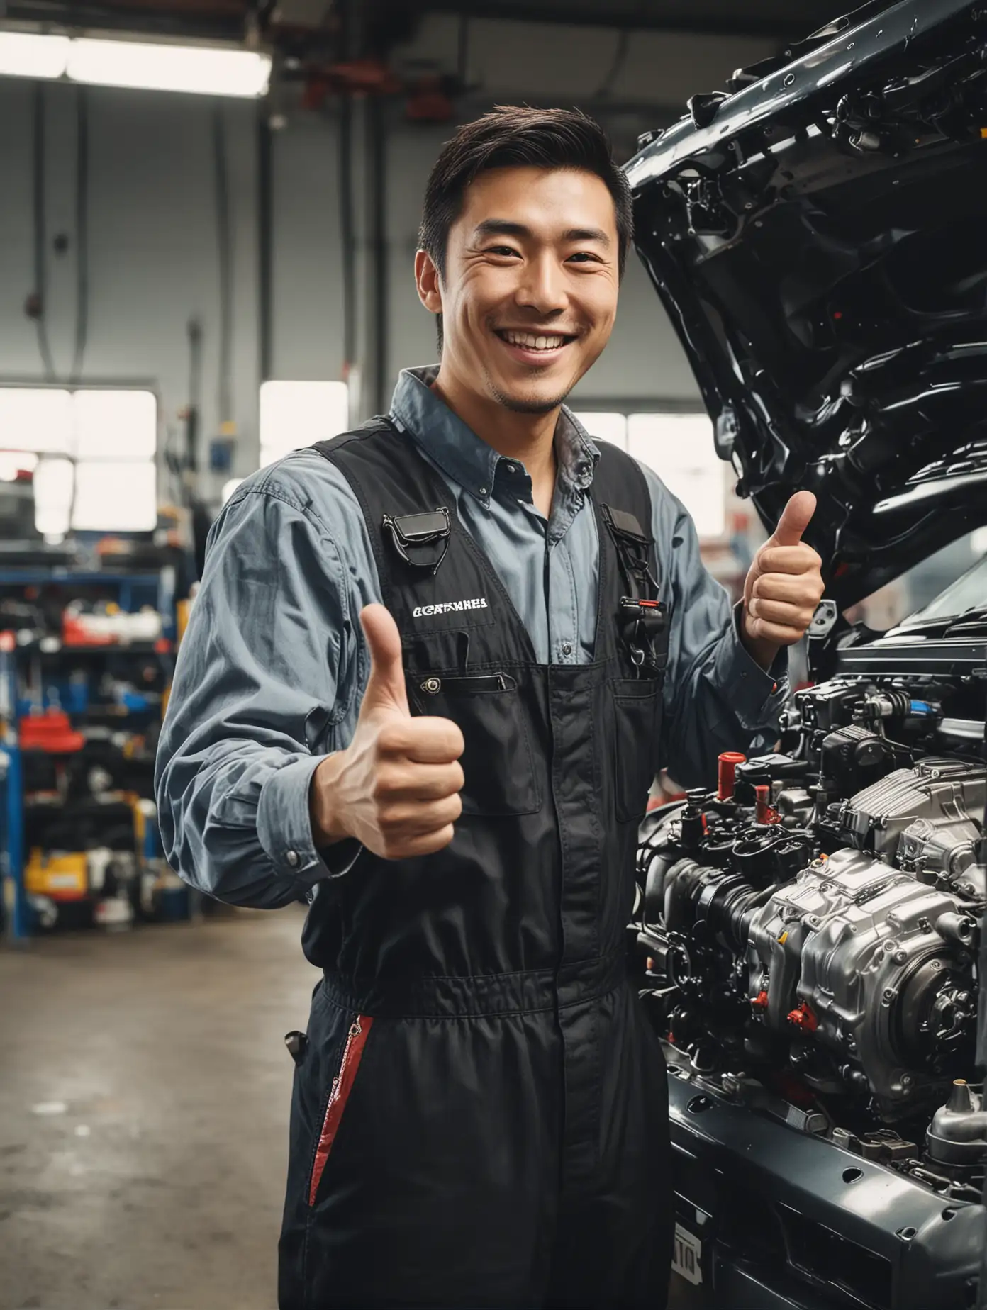
[[[419,714],[457,723],[465,743],[464,815],[528,815],[541,808],[527,710],[510,673],[409,673]]]

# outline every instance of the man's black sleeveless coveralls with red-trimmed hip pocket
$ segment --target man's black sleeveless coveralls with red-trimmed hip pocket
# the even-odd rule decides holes
[[[400,558],[384,516],[448,503],[410,441],[375,421],[320,449],[360,502],[412,713],[459,723],[465,785],[448,848],[364,852],[311,907],[281,1310],[661,1310],[667,1091],[627,925],[662,696],[621,645],[602,511],[649,525],[645,479],[603,443],[595,660],[544,665],[455,512],[436,572]],[[431,609],[459,599],[485,604]]]

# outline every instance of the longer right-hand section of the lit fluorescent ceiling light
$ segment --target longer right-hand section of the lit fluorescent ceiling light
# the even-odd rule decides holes
[[[250,98],[266,94],[271,59],[252,50],[79,37],[72,41],[67,72],[73,81],[98,86]]]

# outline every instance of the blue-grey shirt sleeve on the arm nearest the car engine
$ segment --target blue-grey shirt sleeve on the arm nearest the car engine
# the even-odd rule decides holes
[[[742,607],[731,608],[725,588],[704,567],[688,511],[650,469],[644,472],[661,595],[671,605],[662,766],[682,786],[708,786],[721,751],[762,755],[777,740],[788,651],[780,651],[767,672],[747,652],[739,633]]]

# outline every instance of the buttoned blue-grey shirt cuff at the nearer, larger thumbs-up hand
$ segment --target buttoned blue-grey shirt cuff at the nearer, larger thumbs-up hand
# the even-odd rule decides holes
[[[363,850],[358,841],[316,850],[308,793],[324,756],[292,760],[267,778],[257,803],[257,838],[283,878],[303,884],[347,874]]]

